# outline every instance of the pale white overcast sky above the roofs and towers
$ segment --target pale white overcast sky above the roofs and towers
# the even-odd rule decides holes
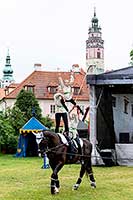
[[[85,68],[85,41],[96,7],[105,69],[127,67],[133,48],[132,0],[0,0],[0,77],[9,48],[16,82],[41,63],[47,70]]]

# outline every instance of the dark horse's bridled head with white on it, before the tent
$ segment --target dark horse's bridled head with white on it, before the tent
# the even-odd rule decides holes
[[[38,144],[38,155],[43,157],[48,148],[48,139],[44,132],[34,133],[34,135],[36,136],[36,143]]]

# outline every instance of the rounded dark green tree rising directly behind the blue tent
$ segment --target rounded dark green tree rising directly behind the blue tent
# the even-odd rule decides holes
[[[42,117],[38,100],[31,91],[25,91],[22,89],[16,98],[15,106],[21,110],[27,121],[33,116],[33,114],[35,114],[35,117],[38,120]]]

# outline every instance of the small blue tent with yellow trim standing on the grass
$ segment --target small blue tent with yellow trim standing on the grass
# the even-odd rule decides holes
[[[16,157],[37,156],[38,146],[33,133],[48,130],[35,117],[32,117],[21,129]]]

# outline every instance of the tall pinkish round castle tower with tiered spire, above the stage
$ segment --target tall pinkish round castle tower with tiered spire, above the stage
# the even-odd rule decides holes
[[[100,74],[104,72],[104,40],[95,9],[91,23],[86,40],[86,71],[88,74]]]

